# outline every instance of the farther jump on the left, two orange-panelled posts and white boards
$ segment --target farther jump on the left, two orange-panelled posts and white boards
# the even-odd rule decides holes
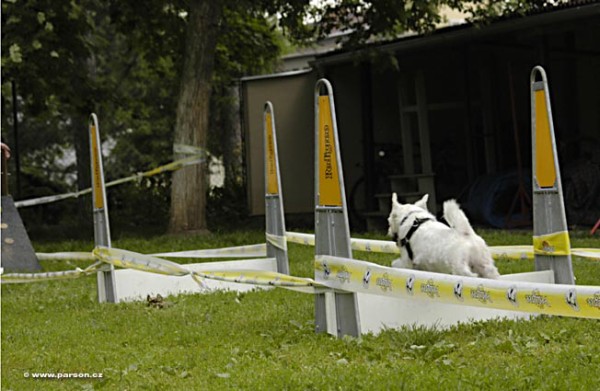
[[[228,252],[243,252],[250,256],[260,255],[266,250],[267,258],[244,259],[222,262],[203,262],[185,265],[188,270],[196,272],[210,271],[242,271],[279,272],[289,274],[287,243],[278,243],[274,238],[284,237],[285,222],[281,195],[281,179],[279,176],[279,160],[277,157],[277,137],[273,106],[267,102],[264,110],[265,133],[265,219],[266,244],[263,246],[243,246],[230,251],[204,250],[203,255],[210,257],[227,256]],[[108,210],[106,203],[106,187],[102,168],[102,154],[98,119],[92,114],[90,119],[90,149],[92,154],[92,202],[94,205],[94,240],[96,246],[111,247]],[[227,249],[225,249],[227,250]],[[198,255],[195,252],[161,253],[167,257],[185,257]],[[194,254],[192,254],[194,253]],[[198,284],[189,276],[169,276],[148,273],[135,269],[115,269],[113,265],[103,265],[98,272],[99,302],[116,303],[119,301],[143,300],[148,295],[177,295],[182,293],[206,293],[214,290],[232,290],[245,292],[256,289],[256,286],[231,281],[205,279]],[[260,289],[269,287],[260,286]]]

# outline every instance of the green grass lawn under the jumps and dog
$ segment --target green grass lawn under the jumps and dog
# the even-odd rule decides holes
[[[483,231],[489,244],[527,244],[527,232]],[[382,237],[373,236],[379,239]],[[572,236],[574,247],[599,239]],[[152,253],[259,243],[259,231],[127,238],[115,247]],[[91,242],[34,243],[37,251],[88,251]],[[312,248],[290,245],[292,274],[312,276]],[[357,253],[389,264],[392,257]],[[502,273],[530,261],[497,262]],[[46,262],[45,270],[84,263]],[[600,262],[574,259],[579,284],[600,285]],[[274,289],[96,302],[95,277],[2,286],[3,390],[598,390],[600,322],[539,317],[463,324],[445,331],[387,330],[335,339],[313,331],[314,298]],[[36,380],[34,372],[102,373]]]

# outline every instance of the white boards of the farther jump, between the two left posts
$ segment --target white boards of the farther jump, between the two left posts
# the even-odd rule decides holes
[[[183,265],[193,271],[213,270],[260,270],[277,271],[274,258],[248,259],[241,261],[202,262]],[[207,293],[213,291],[248,292],[255,289],[271,289],[269,286],[239,284],[235,282],[203,279],[204,287],[191,276],[167,276],[133,269],[115,270],[115,283],[119,301],[146,300],[147,296],[170,296],[180,294]]]

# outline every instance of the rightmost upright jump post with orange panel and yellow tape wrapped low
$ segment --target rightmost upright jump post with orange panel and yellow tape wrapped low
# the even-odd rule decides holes
[[[540,81],[536,81],[538,76]],[[533,251],[536,270],[553,270],[560,284],[575,284],[546,71],[530,75],[533,149]]]

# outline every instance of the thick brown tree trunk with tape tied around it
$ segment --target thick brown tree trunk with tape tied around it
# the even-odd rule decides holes
[[[220,1],[192,0],[177,103],[175,144],[206,148],[211,79],[221,18]],[[175,153],[175,158],[184,155]],[[173,174],[170,232],[206,229],[207,164],[187,166]]]

